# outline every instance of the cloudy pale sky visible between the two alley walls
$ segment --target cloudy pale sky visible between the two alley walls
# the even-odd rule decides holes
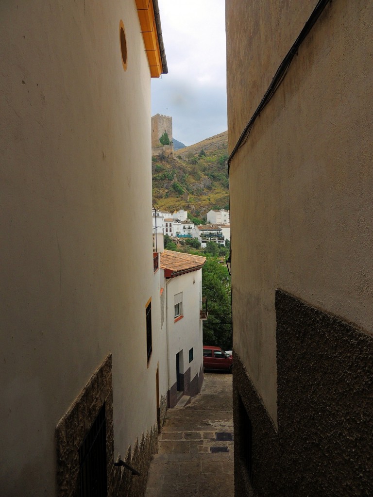
[[[152,115],[185,145],[227,130],[224,0],[158,0],[169,74],[152,80]]]

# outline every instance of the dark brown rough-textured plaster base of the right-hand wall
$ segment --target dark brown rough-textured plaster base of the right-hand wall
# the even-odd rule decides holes
[[[235,496],[371,496],[373,336],[276,291],[278,429],[238,355]],[[239,399],[252,423],[252,478]]]

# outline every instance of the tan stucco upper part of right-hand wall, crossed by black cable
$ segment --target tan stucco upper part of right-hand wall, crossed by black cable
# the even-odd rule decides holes
[[[226,2],[230,151],[314,3]],[[372,15],[326,7],[231,163],[234,348],[275,423],[276,288],[373,331]]]

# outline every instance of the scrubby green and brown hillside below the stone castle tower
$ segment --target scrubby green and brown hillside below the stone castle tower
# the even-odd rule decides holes
[[[185,209],[202,217],[229,208],[227,132],[152,158],[153,204],[160,210]]]

